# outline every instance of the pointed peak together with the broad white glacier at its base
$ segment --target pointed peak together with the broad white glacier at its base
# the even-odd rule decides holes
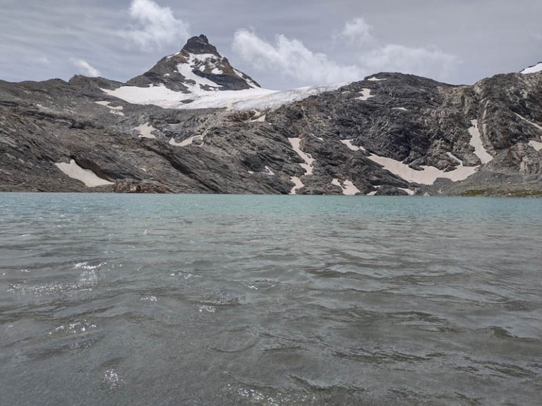
[[[287,91],[267,90],[238,71],[209,44],[205,35],[193,37],[176,54],[161,59],[150,71],[128,80],[108,95],[137,105],[170,109],[275,109],[342,84]]]

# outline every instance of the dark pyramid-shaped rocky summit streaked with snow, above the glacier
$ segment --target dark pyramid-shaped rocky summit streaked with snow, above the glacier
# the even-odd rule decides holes
[[[175,92],[194,94],[260,88],[253,78],[231,66],[205,35],[191,37],[181,51],[160,59],[149,71],[128,80],[126,85],[164,86]]]

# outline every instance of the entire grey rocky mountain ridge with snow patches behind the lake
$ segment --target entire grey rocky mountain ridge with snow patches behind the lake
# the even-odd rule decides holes
[[[0,190],[542,196],[523,73],[277,92],[200,35],[126,83],[0,82]]]

